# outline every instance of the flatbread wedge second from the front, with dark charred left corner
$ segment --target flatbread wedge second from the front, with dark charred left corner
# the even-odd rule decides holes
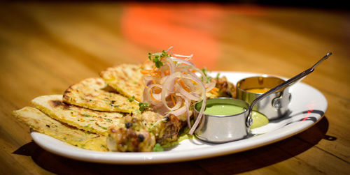
[[[40,109],[48,116],[75,126],[78,129],[88,132],[94,132],[100,135],[108,135],[107,130],[110,126],[120,125],[120,118],[123,114],[118,112],[97,112],[83,107],[66,105],[62,102],[62,95],[40,96],[31,100],[34,107]]]

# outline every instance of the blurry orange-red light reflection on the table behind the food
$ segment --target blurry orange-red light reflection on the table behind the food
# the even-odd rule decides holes
[[[225,31],[225,17],[263,13],[256,7],[213,3],[129,3],[123,8],[121,31],[134,45],[151,52],[174,46],[176,54],[193,54],[198,68],[213,70],[221,56],[218,39],[230,32]]]

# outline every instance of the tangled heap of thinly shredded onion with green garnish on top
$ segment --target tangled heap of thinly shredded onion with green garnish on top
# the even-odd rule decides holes
[[[207,77],[202,70],[189,61],[193,55],[172,54],[171,56],[171,53],[168,53],[171,50],[172,47],[169,47],[166,52],[151,54],[160,58],[163,65],[160,68],[153,68],[151,73],[144,75],[146,86],[142,101],[150,103],[155,112],[165,116],[173,114],[180,117],[186,114],[186,118],[182,120],[187,120],[189,134],[192,135],[202,119],[207,102],[206,93],[214,88],[215,82],[207,83]],[[155,89],[158,90],[157,93]],[[201,100],[200,114],[191,126],[190,107]]]

